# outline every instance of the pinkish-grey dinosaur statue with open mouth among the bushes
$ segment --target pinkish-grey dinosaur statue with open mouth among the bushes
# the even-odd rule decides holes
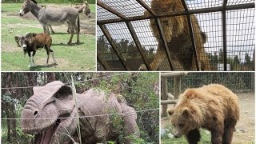
[[[22,110],[21,126],[24,133],[35,135],[36,144],[78,142],[78,119],[74,118],[78,115],[82,143],[117,142],[121,130],[125,137],[130,134],[139,137],[136,112],[122,96],[87,90],[77,94],[78,107],[75,107],[71,88],[62,82],[50,82],[33,90],[34,95]],[[113,113],[124,114],[93,116]],[[121,118],[123,126],[116,126],[111,117]],[[132,143],[128,138],[125,141]]]

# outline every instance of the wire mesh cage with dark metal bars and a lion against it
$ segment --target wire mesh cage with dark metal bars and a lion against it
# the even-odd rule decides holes
[[[98,0],[98,70],[254,70],[254,0]]]

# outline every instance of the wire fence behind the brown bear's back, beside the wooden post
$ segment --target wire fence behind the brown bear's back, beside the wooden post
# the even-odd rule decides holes
[[[236,94],[254,95],[254,73],[189,73],[181,77],[181,91],[211,83],[226,86]],[[174,78],[168,78],[168,92],[174,93]]]

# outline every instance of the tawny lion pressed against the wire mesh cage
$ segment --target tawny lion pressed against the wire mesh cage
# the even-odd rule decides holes
[[[152,0],[151,9],[156,13],[171,13],[184,10],[180,0]],[[149,12],[145,12],[149,15]],[[190,29],[188,26],[187,16],[175,16],[169,18],[159,18],[168,49],[170,50],[170,60],[173,70],[197,70],[196,56],[193,54],[192,42],[190,38]],[[203,44],[206,43],[206,34],[202,32],[198,19],[190,15],[192,29],[194,32],[195,49],[198,54],[199,70],[210,70],[210,63],[206,55]],[[150,28],[154,37],[158,40],[158,50],[150,64],[151,70],[158,70],[161,62],[166,58],[161,37],[156,25],[155,19],[150,19]],[[144,70],[146,66],[141,66],[139,70]]]

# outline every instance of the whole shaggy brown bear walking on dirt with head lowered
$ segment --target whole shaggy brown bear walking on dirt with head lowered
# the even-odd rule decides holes
[[[190,144],[198,143],[202,127],[210,130],[213,144],[230,144],[239,119],[238,96],[225,86],[210,84],[186,90],[167,112],[175,138],[185,134]]]

